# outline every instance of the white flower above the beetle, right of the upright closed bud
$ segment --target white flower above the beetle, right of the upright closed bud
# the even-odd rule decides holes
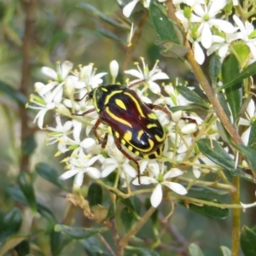
[[[148,65],[145,64],[144,59],[141,57],[143,62],[143,70],[139,67],[139,64],[136,62],[137,69],[130,69],[126,70],[125,73],[131,74],[132,76],[136,77],[137,79],[132,80],[131,84],[139,84],[143,82],[148,85],[149,89],[152,90],[155,94],[160,93],[160,86],[156,84],[155,80],[160,79],[169,79],[166,73],[161,72],[160,68],[157,67],[159,61],[155,61],[154,67],[152,70],[148,69]]]

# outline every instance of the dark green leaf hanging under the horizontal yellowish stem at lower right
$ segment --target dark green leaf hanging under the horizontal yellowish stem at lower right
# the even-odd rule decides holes
[[[198,199],[203,201],[210,201],[206,198],[198,198]],[[211,201],[211,202],[221,204],[221,202],[219,201]],[[188,207],[188,204],[185,204],[183,201],[180,201],[179,204],[183,207]],[[193,203],[189,203],[189,210],[197,212],[209,218],[224,219],[224,218],[230,217],[230,209],[222,209],[219,207],[212,207],[208,205],[198,206]]]

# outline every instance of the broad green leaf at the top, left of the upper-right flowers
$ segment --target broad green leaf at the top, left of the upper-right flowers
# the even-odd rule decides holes
[[[163,14],[160,5],[151,1],[148,11],[154,30],[159,36],[160,41],[172,41],[180,44],[180,40],[177,37],[177,25]]]

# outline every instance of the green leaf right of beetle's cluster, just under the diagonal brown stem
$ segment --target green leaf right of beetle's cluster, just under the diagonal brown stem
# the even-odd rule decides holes
[[[232,160],[230,154],[228,154],[224,148],[217,142],[208,138],[201,138],[196,142],[199,150],[202,154],[205,154],[207,158],[212,160],[212,162],[223,166],[226,169],[234,169],[235,161]],[[211,147],[212,146],[212,147]]]

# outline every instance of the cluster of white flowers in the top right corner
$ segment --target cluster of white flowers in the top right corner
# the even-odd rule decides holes
[[[138,2],[139,0],[133,0],[128,3],[123,14],[129,17]],[[224,60],[230,52],[234,52],[234,44],[247,46],[251,53],[249,64],[256,60],[256,32],[253,24],[248,20],[241,20],[237,15],[229,17],[231,12],[224,10],[227,4],[236,6],[238,1],[229,3],[228,0],[173,0],[172,3],[177,7],[177,19],[183,24],[187,38],[193,46],[195,60],[200,65],[205,61],[205,53],[212,55],[217,52],[221,60]],[[149,4],[150,0],[143,1],[145,8]]]

